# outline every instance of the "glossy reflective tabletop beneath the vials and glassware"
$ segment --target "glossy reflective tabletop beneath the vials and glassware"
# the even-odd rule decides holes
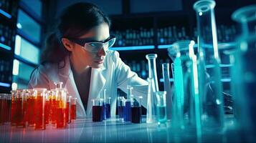
[[[170,123],[131,124],[119,119],[92,122],[91,118],[76,119],[65,129],[47,126],[45,130],[17,129],[10,124],[0,126],[0,142],[242,142],[234,129],[234,119],[226,118],[225,132],[203,132],[196,137],[193,129],[175,130]]]

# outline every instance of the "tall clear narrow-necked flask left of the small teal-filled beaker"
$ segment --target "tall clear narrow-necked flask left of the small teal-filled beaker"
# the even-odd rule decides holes
[[[147,54],[148,59],[148,104],[147,123],[157,122],[156,120],[156,92],[158,92],[158,80],[156,74],[157,54]]]

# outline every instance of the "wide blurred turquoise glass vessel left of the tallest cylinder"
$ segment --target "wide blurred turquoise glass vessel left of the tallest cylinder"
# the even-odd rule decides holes
[[[172,123],[179,129],[195,126],[196,119],[200,120],[199,114],[196,114],[200,112],[200,106],[199,95],[196,92],[198,77],[194,41],[176,41],[168,51],[174,61],[171,64],[174,77]],[[200,127],[200,122],[198,124]]]

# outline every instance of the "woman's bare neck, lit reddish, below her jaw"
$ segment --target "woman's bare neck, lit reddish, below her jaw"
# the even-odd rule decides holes
[[[73,74],[77,76],[87,73],[90,71],[90,66],[83,65],[80,61],[78,61],[72,54],[70,54],[70,66]]]

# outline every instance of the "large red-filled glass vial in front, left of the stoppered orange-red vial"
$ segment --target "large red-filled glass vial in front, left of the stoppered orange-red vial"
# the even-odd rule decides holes
[[[34,106],[34,129],[45,129],[44,123],[44,104],[45,104],[45,94],[47,89],[35,88],[34,94],[36,95],[36,101]]]

